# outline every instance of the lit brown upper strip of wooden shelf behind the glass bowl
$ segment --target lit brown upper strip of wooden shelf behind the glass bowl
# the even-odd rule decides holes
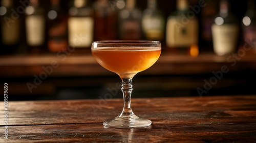
[[[201,54],[198,57],[162,54],[151,68],[140,75],[208,74],[221,70],[222,66],[227,66],[229,71],[256,70],[256,56],[251,54],[234,58],[214,54]],[[101,67],[90,54],[2,56],[0,67],[1,77],[33,77],[46,69],[50,77],[115,75]]]

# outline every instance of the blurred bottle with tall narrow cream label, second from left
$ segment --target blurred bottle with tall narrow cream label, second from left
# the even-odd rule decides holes
[[[47,50],[45,45],[46,17],[39,5],[39,0],[30,0],[25,10],[26,39],[30,53],[41,53]]]

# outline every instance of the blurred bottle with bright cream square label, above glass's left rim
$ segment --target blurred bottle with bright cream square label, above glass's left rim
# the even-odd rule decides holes
[[[94,18],[93,9],[87,0],[74,0],[69,9],[68,38],[69,46],[77,49],[89,49],[93,41]]]

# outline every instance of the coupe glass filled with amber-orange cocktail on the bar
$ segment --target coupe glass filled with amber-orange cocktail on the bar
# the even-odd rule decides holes
[[[159,41],[94,41],[92,55],[104,68],[122,79],[124,106],[120,115],[106,120],[103,125],[114,128],[147,127],[150,120],[136,116],[131,108],[133,77],[151,67],[161,54]]]

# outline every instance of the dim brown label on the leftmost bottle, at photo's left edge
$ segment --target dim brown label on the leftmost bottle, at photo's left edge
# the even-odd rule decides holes
[[[17,44],[19,41],[20,20],[16,19],[9,27],[5,20],[2,20],[2,42],[5,45]]]

